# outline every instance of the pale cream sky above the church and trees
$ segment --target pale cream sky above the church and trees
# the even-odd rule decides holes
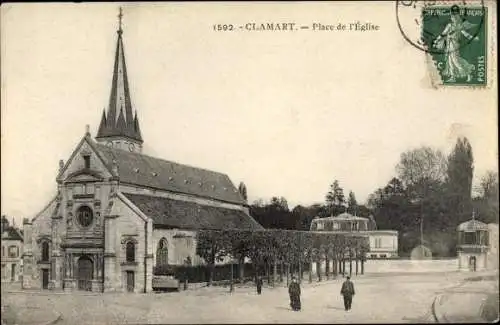
[[[122,4],[133,107],[148,155],[224,172],[249,201],[323,202],[337,179],[364,202],[422,145],[473,147],[497,170],[496,82],[432,87],[394,4]],[[1,212],[32,218],[60,159],[107,107],[117,3],[1,7]],[[378,31],[214,31],[214,24],[370,22]],[[496,60],[495,60],[496,61]],[[494,62],[490,60],[490,62]],[[493,67],[496,69],[496,67]]]

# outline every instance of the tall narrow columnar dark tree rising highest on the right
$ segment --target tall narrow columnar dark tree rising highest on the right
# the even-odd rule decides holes
[[[456,224],[469,219],[472,213],[473,164],[469,141],[467,138],[459,138],[448,156],[446,173],[448,210],[455,217]]]

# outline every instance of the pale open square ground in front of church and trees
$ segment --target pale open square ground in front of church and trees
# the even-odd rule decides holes
[[[395,323],[432,321],[436,295],[456,287],[470,274],[407,274],[354,277],[353,309],[343,310],[341,279],[305,284],[302,311],[288,306],[285,287],[212,287],[162,294],[7,293],[2,304],[61,314],[57,324],[131,323]],[[49,318],[48,316],[46,318]],[[40,322],[38,322],[39,324]],[[34,323],[33,323],[34,324]],[[21,323],[19,323],[21,325]]]

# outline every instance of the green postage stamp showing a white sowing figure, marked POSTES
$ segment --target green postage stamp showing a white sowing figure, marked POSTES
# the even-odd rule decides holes
[[[443,85],[487,85],[486,21],[484,6],[422,9],[422,41]]]

